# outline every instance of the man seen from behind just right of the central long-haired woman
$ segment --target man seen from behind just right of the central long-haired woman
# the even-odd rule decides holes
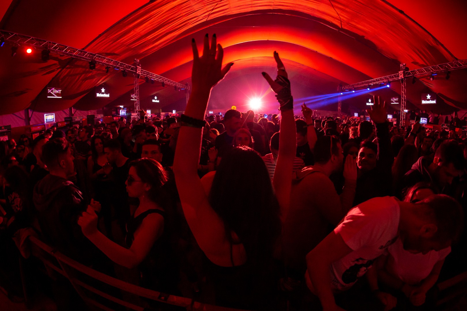
[[[352,207],[357,166],[347,156],[345,166],[339,139],[320,136],[314,148],[315,164],[297,172],[292,180],[291,202],[284,223],[283,254],[291,277],[300,278],[306,270],[305,256],[336,226]],[[344,168],[344,187],[337,194],[332,173]]]

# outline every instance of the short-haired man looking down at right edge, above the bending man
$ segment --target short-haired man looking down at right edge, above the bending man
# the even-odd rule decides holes
[[[439,193],[452,194],[450,185],[464,169],[464,151],[456,141],[445,141],[436,149],[433,159],[421,157],[402,180],[401,189],[426,181],[438,187]]]

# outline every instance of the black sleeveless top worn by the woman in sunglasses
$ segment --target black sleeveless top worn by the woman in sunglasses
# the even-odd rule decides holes
[[[127,221],[125,243],[128,248],[134,241],[134,233],[149,214],[160,214],[164,218],[164,231],[154,242],[146,258],[138,265],[140,286],[164,293],[177,293],[179,280],[178,265],[170,243],[170,228],[166,213],[160,209],[149,209]]]

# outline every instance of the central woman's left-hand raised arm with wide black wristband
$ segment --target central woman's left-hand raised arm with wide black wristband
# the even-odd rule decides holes
[[[206,34],[201,57],[198,55],[194,39],[191,44],[193,48],[192,91],[178,134],[173,172],[186,221],[199,247],[212,263],[231,266],[230,256],[226,256],[230,254],[231,245],[226,237],[224,223],[210,206],[197,171],[203,119],[211,89],[224,78],[233,63],[221,68],[224,52],[220,44],[217,44],[215,35],[212,36],[211,47],[209,47],[209,37]],[[244,257],[243,245],[233,245],[232,250],[234,262],[241,263],[241,258]]]

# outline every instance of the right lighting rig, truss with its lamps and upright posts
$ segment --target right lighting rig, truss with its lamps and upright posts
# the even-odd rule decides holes
[[[362,81],[359,83],[354,83],[354,84],[348,84],[346,86],[341,86],[339,85],[337,91],[342,92],[343,90],[355,90],[358,88],[363,88],[371,86],[371,85],[380,85],[380,84],[385,84],[389,88],[390,83],[392,81],[399,81],[401,82],[401,126],[403,126],[403,122],[405,120],[405,110],[407,106],[407,78],[412,77],[412,84],[415,83],[416,78],[424,77],[424,76],[430,76],[430,80],[433,81],[434,76],[438,75],[439,73],[444,73],[446,74],[446,80],[449,79],[451,70],[454,69],[462,69],[462,68],[467,68],[467,59],[461,59],[453,62],[446,62],[443,64],[439,65],[434,65],[434,66],[428,66],[424,68],[419,68],[419,69],[413,69],[409,70],[409,67],[405,66],[405,64],[401,64],[400,71],[394,75],[389,75],[389,76],[382,76],[380,78],[376,79],[371,79],[367,81]],[[342,93],[341,93],[342,94]],[[337,112],[338,112],[338,117],[341,115],[341,99],[339,96],[338,100],[338,107],[337,107]]]

